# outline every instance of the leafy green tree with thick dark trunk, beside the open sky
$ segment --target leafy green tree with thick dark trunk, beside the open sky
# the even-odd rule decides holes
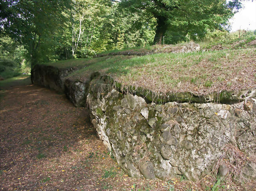
[[[130,11],[145,11],[157,19],[154,44],[161,44],[167,30],[183,34],[204,34],[207,29],[221,28],[234,10],[241,8],[239,0],[121,0],[120,7]]]

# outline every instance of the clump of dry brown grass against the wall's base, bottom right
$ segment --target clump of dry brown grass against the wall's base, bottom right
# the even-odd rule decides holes
[[[256,181],[246,176],[245,169],[249,164],[256,164],[256,156],[248,156],[234,145],[225,145],[222,150],[223,154],[214,165],[213,170],[199,181],[200,185],[209,191],[251,191],[256,189]],[[221,164],[228,167],[228,174],[223,182],[218,177],[218,169]]]

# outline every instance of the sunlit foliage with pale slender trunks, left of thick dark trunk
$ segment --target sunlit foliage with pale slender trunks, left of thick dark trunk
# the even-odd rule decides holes
[[[67,14],[63,38],[73,58],[90,58],[96,53],[152,43],[155,19],[142,13],[119,10],[105,0],[77,0]],[[65,53],[67,55],[67,52]],[[69,56],[66,56],[67,58]]]

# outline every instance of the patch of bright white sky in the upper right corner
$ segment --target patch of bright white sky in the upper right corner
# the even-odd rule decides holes
[[[239,30],[240,26],[245,30],[256,29],[256,0],[243,2],[243,6],[244,8],[230,19],[231,31]]]

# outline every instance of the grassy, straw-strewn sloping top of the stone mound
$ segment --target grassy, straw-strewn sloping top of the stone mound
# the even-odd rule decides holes
[[[117,55],[48,64],[61,68],[82,68],[68,76],[75,80],[84,80],[93,71],[100,71],[124,86],[133,85],[156,93],[191,92],[206,95],[213,91],[256,88],[254,41],[232,41],[222,44],[219,50],[211,50],[215,49],[216,44],[210,46],[204,43],[204,49],[193,53]]]

